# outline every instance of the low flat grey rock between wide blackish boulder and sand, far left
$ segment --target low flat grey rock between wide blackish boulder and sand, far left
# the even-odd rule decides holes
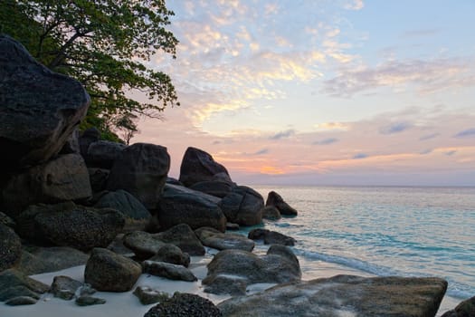
[[[88,259],[89,255],[68,246],[35,246],[23,252],[17,269],[26,275],[42,274],[83,265]]]

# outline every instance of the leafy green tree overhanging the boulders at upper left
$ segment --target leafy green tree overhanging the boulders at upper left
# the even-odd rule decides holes
[[[52,71],[82,82],[92,102],[81,128],[96,126],[109,138],[118,118],[159,118],[179,105],[170,77],[149,63],[157,51],[176,58],[178,41],[166,30],[173,14],[165,0],[0,1],[2,32]]]

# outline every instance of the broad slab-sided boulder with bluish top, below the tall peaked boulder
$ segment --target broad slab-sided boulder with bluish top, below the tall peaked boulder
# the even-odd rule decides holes
[[[224,231],[226,217],[218,207],[219,200],[199,191],[166,184],[158,205],[158,224],[162,230],[187,224],[192,229],[211,226]]]

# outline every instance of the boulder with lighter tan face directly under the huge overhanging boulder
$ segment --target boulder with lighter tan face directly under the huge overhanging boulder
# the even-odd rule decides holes
[[[17,216],[30,205],[84,200],[92,191],[81,155],[66,154],[14,175],[2,195],[5,210]]]

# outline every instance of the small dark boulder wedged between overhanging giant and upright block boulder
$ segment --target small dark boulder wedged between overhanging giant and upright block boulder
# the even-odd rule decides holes
[[[120,152],[126,148],[127,145],[118,142],[106,140],[92,142],[85,157],[86,164],[88,168],[110,169],[114,164],[114,160],[119,157]]]

